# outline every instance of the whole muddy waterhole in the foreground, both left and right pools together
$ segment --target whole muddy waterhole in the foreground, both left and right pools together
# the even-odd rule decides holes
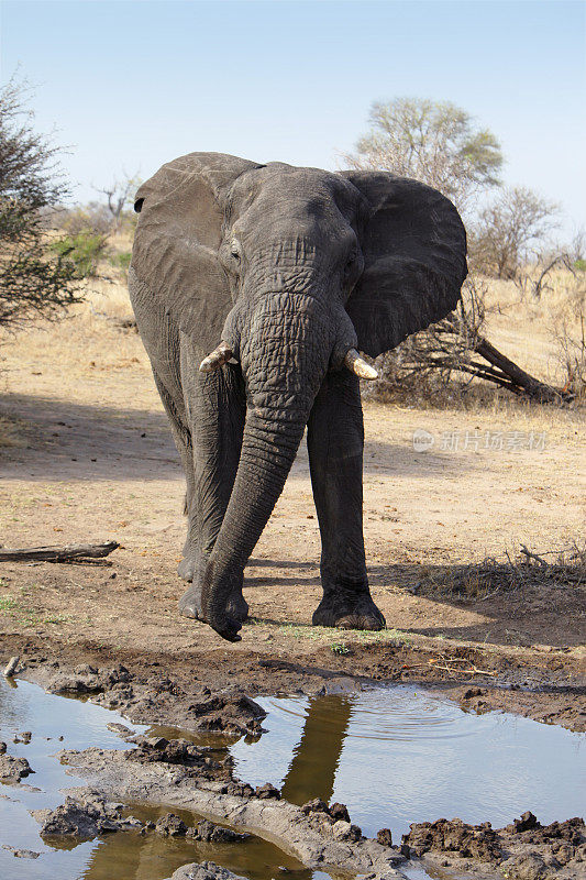
[[[408,686],[352,695],[266,697],[257,741],[229,748],[236,774],[272,782],[292,803],[312,798],[347,804],[352,821],[372,836],[382,827],[398,843],[411,822],[460,816],[495,827],[530,809],[542,822],[582,815],[586,791],[586,736],[512,715],[463,712],[433,693]],[[328,880],[277,847],[251,837],[212,845],[124,832],[98,840],[44,843],[29,811],[55,807],[60,790],[84,784],[65,773],[62,748],[129,748],[107,725],[122,722],[136,733],[163,728],[131,725],[89,702],[46,694],[29,682],[0,679],[0,739],[36,771],[21,783],[0,787],[0,878],[2,880],[163,880],[180,865],[211,859],[251,880]],[[20,732],[31,743],[14,744]],[[199,745],[201,738],[166,728]],[[63,740],[59,737],[63,736]],[[146,821],[167,812],[194,825],[196,814],[164,805],[130,804]],[[11,850],[31,849],[34,860]],[[411,875],[428,877],[424,871]]]

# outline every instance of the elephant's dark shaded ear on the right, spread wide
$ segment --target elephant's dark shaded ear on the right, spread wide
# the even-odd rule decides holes
[[[376,358],[452,311],[467,275],[466,231],[450,199],[388,172],[342,172],[365,197],[364,272],[346,304]]]

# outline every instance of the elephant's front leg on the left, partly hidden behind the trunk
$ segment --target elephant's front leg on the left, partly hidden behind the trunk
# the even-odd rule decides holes
[[[179,600],[185,617],[201,617],[201,580],[230,501],[240,460],[245,419],[244,383],[240,366],[225,365],[200,373],[202,354],[184,340],[181,385],[192,438],[192,491],[188,494],[189,534],[186,541],[192,571],[189,588]],[[229,602],[229,613],[245,620],[248,606],[242,582]]]

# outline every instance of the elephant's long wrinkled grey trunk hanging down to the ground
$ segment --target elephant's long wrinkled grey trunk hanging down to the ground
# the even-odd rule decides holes
[[[201,603],[206,620],[231,641],[240,624],[229,617],[228,602],[240,588],[244,565],[283,491],[332,352],[349,336],[342,324],[346,328],[343,317],[319,299],[279,293],[241,318],[237,341],[234,334],[230,339],[246,378],[247,415],[234,487],[203,573]],[[346,348],[352,344],[349,336]]]

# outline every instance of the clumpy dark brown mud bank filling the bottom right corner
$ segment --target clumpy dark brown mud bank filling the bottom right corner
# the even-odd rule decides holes
[[[461,820],[411,825],[402,838],[406,854],[423,857],[435,869],[457,872],[495,870],[510,880],[582,880],[586,878],[586,826],[576,817],[545,827],[527,812],[505,828]]]

